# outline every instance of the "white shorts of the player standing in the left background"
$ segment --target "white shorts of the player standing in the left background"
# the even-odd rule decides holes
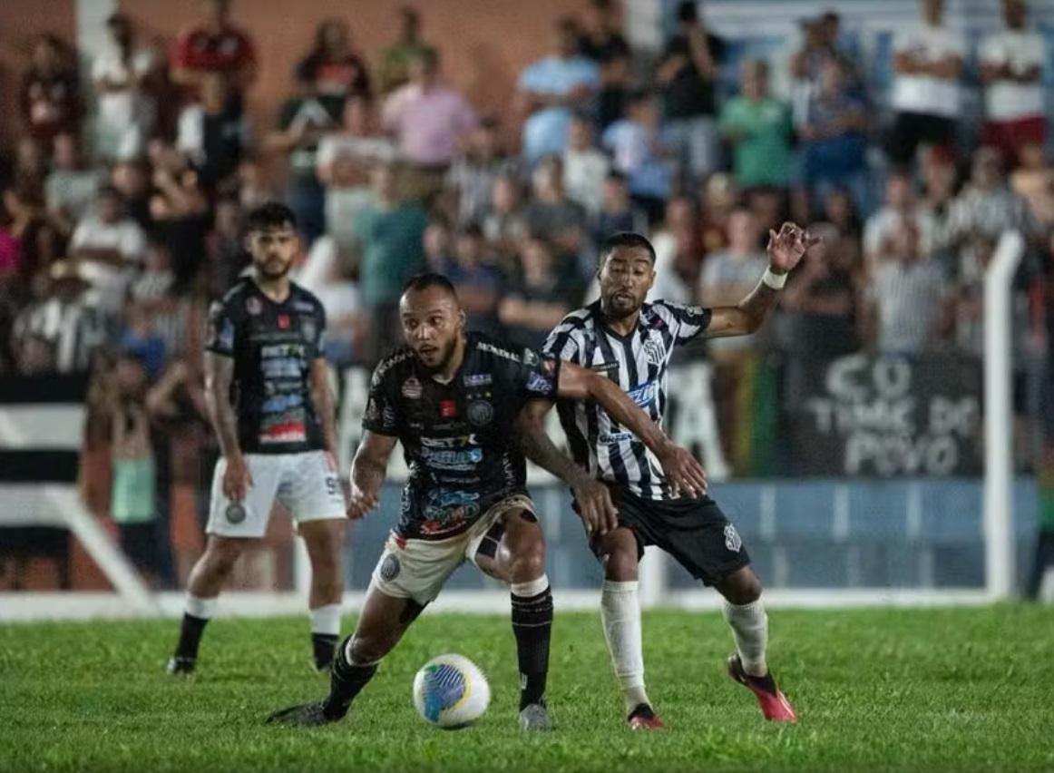
[[[216,463],[206,534],[259,539],[267,532],[275,502],[289,508],[297,523],[345,518],[344,492],[326,451],[247,453],[253,485],[242,502],[223,496],[227,459]]]

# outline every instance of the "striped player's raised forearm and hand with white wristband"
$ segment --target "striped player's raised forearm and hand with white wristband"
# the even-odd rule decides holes
[[[758,286],[735,306],[713,309],[706,337],[749,335],[756,332],[776,306],[786,275],[801,262],[808,248],[820,240],[794,223],[784,223],[780,232],[768,232],[768,268]]]

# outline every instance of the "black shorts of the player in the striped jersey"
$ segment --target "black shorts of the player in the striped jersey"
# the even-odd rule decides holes
[[[619,510],[619,525],[637,538],[638,561],[645,547],[655,545],[704,585],[717,584],[750,564],[736,527],[709,497],[651,500],[621,486],[608,488]],[[589,547],[602,559],[600,538],[591,539]]]

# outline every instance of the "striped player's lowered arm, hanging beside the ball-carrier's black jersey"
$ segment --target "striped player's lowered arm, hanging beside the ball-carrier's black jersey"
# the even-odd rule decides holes
[[[528,401],[516,417],[516,443],[527,459],[571,487],[586,530],[603,536],[619,525],[611,492],[557,448],[545,431],[545,414],[551,408],[552,403],[548,400]]]

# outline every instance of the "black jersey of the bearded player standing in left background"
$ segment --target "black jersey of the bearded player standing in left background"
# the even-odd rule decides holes
[[[280,304],[251,278],[209,310],[206,349],[234,357],[231,400],[246,453],[298,453],[326,447],[311,400],[311,363],[323,356],[326,314],[291,284]]]

